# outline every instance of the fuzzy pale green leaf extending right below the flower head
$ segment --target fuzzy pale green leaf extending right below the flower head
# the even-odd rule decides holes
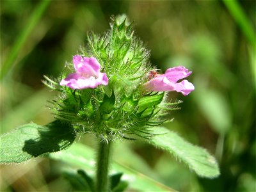
[[[204,148],[188,143],[175,132],[164,127],[154,127],[154,134],[161,135],[152,137],[152,140],[146,140],[148,143],[170,152],[200,177],[214,178],[220,175],[215,158]]]

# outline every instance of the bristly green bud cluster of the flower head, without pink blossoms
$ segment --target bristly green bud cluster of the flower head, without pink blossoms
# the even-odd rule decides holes
[[[51,102],[54,115],[77,132],[90,132],[106,142],[134,139],[134,134],[150,139],[152,126],[163,124],[168,110],[176,109],[179,102],[167,103],[165,92],[143,89],[154,68],[125,15],[113,18],[111,29],[103,35],[88,33],[87,47],[78,54],[97,58],[100,71],[109,78],[107,86],[83,90],[60,86],[60,80],[74,72],[72,63],[67,63],[59,79],[45,77],[47,86],[61,92]]]

